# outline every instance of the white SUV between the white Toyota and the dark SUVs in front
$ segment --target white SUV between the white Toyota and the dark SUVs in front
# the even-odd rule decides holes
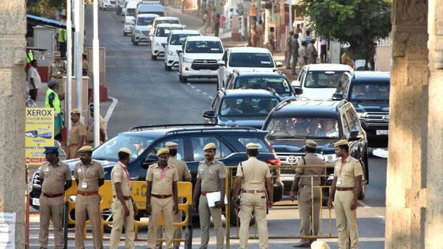
[[[283,65],[275,62],[268,49],[255,47],[234,47],[225,49],[223,58],[219,63],[223,82],[233,73],[237,72],[272,72]]]

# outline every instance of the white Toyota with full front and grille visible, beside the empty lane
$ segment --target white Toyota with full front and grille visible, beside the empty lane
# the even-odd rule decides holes
[[[186,37],[179,52],[179,79],[186,83],[188,78],[217,78],[223,57],[223,45],[219,37]]]

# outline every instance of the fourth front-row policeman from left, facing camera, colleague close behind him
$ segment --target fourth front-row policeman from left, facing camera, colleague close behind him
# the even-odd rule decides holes
[[[148,248],[157,243],[158,219],[163,214],[166,248],[172,248],[174,239],[174,215],[179,212],[177,181],[179,177],[173,165],[168,163],[169,149],[160,148],[158,163],[150,165],[146,173],[146,213],[149,215]]]

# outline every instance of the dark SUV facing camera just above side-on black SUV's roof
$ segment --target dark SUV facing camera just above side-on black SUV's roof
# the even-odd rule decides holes
[[[273,89],[221,89],[203,117],[207,124],[261,129],[268,113],[280,101]]]

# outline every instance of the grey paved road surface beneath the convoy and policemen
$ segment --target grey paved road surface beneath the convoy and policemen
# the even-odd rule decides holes
[[[201,27],[201,22],[195,18],[177,11],[172,11],[172,14],[178,16],[181,23],[190,29]],[[86,34],[89,43],[92,41],[91,21],[91,6],[88,6],[85,23],[88,23]],[[148,46],[133,46],[129,37],[122,36],[122,23],[115,11],[99,12],[99,28],[101,46],[106,47],[109,95],[118,99],[108,123],[110,136],[136,125],[202,121],[201,113],[210,106],[210,97],[216,90],[214,81],[195,80],[189,84],[180,83],[176,72],[164,70],[162,61],[150,60]],[[361,249],[384,248],[386,164],[385,159],[369,158],[371,184],[368,185],[366,199],[359,203],[358,209]],[[323,217],[327,215],[328,211],[323,210]],[[300,219],[295,206],[274,208],[268,218],[270,236],[295,236],[299,232]],[[30,227],[31,248],[38,248],[38,216],[32,217]],[[332,227],[333,234],[336,234],[334,222]],[[325,219],[323,230],[327,229],[328,222]],[[193,248],[198,248],[198,224],[195,224],[193,233]],[[231,236],[234,234],[235,228],[231,227]],[[213,230],[211,235],[214,235]],[[141,231],[139,236],[146,238],[146,229]],[[337,248],[336,240],[326,241],[331,248]],[[297,240],[274,240],[271,241],[271,248],[292,248],[291,245],[295,242]],[[105,248],[108,247],[107,241],[104,244]],[[233,240],[231,244],[231,248],[238,248],[238,241]],[[138,242],[136,245],[137,248],[146,248],[144,242]],[[53,237],[50,239],[51,246]],[[75,248],[73,241],[69,242],[69,248]],[[86,248],[92,248],[90,242],[86,242]],[[210,248],[215,248],[214,237],[211,238]],[[250,248],[258,248],[258,241],[251,241]]]

